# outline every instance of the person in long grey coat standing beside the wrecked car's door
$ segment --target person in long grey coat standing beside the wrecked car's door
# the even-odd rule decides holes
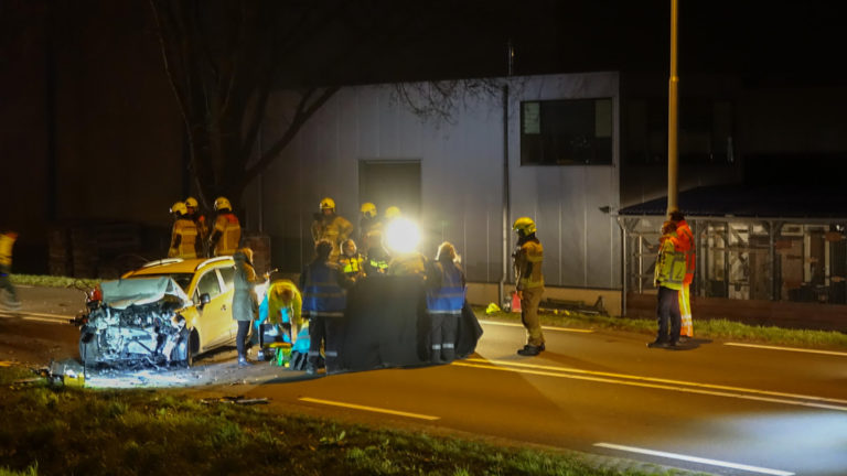
[[[235,260],[235,277],[233,278],[233,318],[238,321],[238,334],[235,345],[238,349],[238,366],[250,365],[247,360],[245,340],[250,323],[258,316],[259,303],[255,285],[259,281],[253,268],[253,250],[242,248],[233,255]]]

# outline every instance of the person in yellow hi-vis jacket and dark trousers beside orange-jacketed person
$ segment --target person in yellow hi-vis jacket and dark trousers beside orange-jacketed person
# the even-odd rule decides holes
[[[662,238],[660,238],[658,257],[654,271],[653,284],[658,288],[658,302],[656,303],[656,320],[658,333],[656,339],[647,344],[647,347],[667,348],[679,345],[679,290],[685,279],[685,252],[682,251],[679,240],[676,237],[676,225],[665,221],[662,225]],[[669,327],[669,329],[668,329]]]

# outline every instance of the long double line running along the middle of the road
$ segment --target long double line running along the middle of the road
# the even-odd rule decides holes
[[[545,377],[569,378],[575,380],[598,381],[603,383],[617,383],[630,387],[644,387],[662,390],[672,390],[686,393],[699,393],[715,397],[728,397],[741,400],[765,401],[797,407],[813,407],[825,410],[847,412],[847,400],[830,399],[825,397],[803,396],[794,393],[774,392],[769,390],[747,389],[741,387],[728,387],[710,383],[688,382],[683,380],[669,380],[653,377],[633,376],[625,374],[601,372],[581,369],[568,369],[562,367],[538,366],[529,364],[512,363],[507,360],[467,359],[471,363],[453,361],[453,366],[475,367],[489,370],[512,371],[517,374],[530,374]],[[511,366],[517,368],[510,368]],[[536,370],[537,369],[537,370]],[[568,375],[571,374],[571,375]],[[575,375],[576,374],[576,375]],[[634,380],[634,381],[628,381]]]

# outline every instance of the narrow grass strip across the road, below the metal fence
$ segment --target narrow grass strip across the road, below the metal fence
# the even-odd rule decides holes
[[[478,318],[503,322],[521,322],[517,313],[496,312],[486,314],[484,307],[474,307]],[[623,318],[586,315],[579,313],[540,314],[542,324],[558,327],[628,331],[653,337],[655,320]],[[716,340],[741,340],[759,344],[783,345],[814,349],[847,350],[847,334],[835,331],[789,329],[775,326],[757,326],[727,320],[695,320],[695,337]]]

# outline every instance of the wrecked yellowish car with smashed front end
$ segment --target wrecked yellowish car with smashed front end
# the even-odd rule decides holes
[[[86,366],[191,366],[235,342],[232,257],[154,261],[106,281],[81,318]]]

